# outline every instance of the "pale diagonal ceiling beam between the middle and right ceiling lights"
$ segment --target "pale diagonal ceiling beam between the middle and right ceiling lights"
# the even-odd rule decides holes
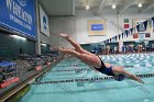
[[[129,9],[132,4],[136,4],[138,0],[125,0],[123,8],[119,11],[119,13],[123,13],[127,9]]]

